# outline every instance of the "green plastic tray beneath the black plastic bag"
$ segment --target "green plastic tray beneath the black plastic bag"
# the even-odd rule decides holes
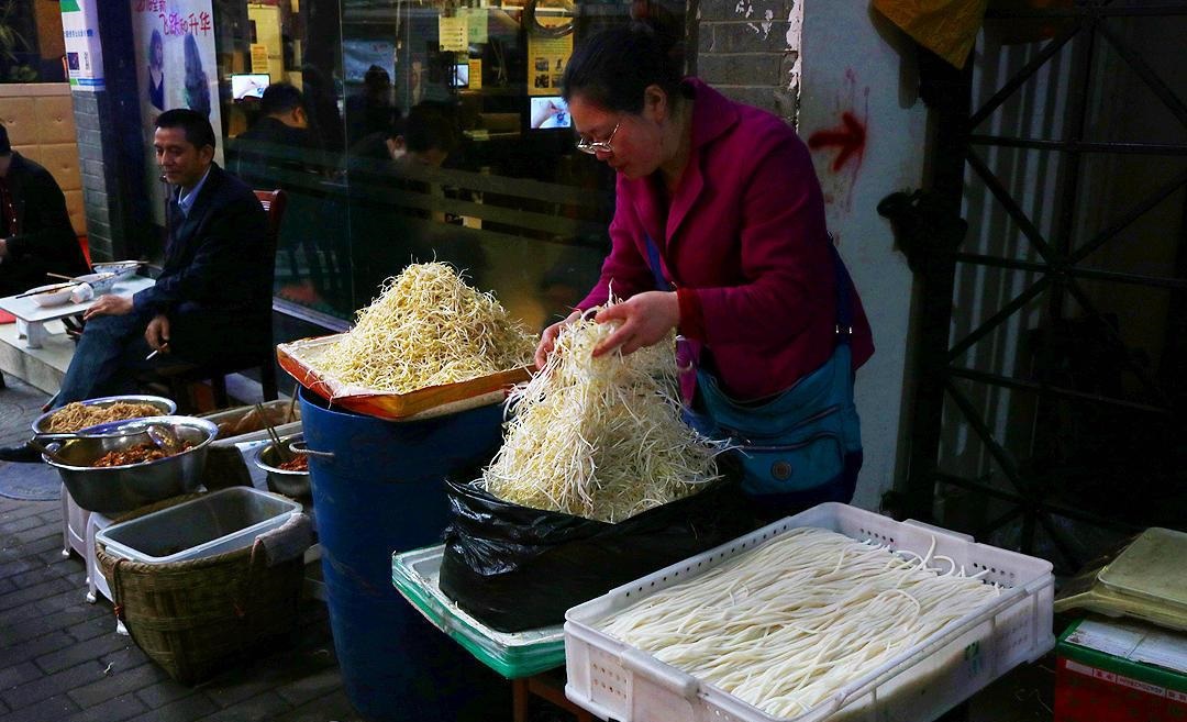
[[[565,664],[563,625],[499,632],[458,608],[438,584],[444,545],[392,555],[392,584],[434,627],[508,679],[531,677]]]

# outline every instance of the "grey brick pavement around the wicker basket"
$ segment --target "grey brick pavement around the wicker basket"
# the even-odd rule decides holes
[[[5,381],[0,445],[24,441],[45,401]],[[0,496],[0,722],[361,722],[322,602],[303,603],[293,647],[186,686],[115,634],[110,602],[87,603],[85,576],[62,557],[59,502]]]

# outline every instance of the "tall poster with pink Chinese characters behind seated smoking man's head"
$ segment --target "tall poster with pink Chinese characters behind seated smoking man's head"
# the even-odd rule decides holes
[[[145,124],[145,172],[158,223],[165,222],[165,184],[153,153],[157,116],[190,108],[210,119],[222,163],[222,114],[211,0],[131,0],[140,116]]]

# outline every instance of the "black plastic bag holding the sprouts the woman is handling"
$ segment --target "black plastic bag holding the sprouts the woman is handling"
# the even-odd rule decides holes
[[[736,466],[699,493],[607,524],[497,499],[475,482],[446,481],[440,589],[502,632],[565,620],[570,607],[754,528]]]

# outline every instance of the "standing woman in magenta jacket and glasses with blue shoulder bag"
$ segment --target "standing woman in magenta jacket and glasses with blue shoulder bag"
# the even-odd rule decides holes
[[[874,344],[808,151],[779,118],[673,65],[637,24],[569,62],[577,147],[617,171],[612,249],[578,311],[545,329],[537,363],[612,283],[626,300],[597,321],[621,325],[595,355],[678,329],[681,361],[698,368],[685,399],[742,446],[743,488],[764,515],[849,501],[861,467],[852,374]]]

